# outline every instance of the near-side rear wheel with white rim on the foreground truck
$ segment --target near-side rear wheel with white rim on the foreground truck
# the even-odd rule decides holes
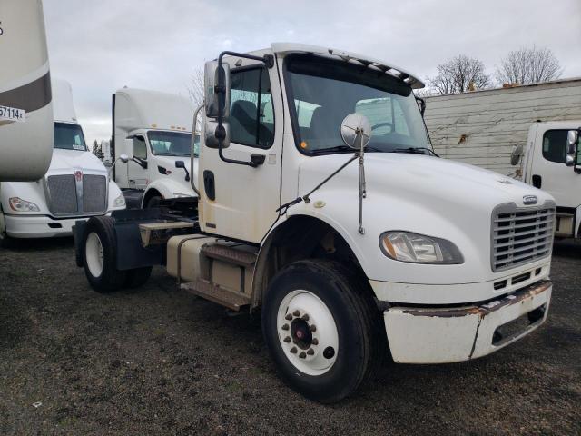
[[[113,292],[123,287],[127,273],[117,269],[115,220],[94,216],[84,229],[84,273],[96,292]]]

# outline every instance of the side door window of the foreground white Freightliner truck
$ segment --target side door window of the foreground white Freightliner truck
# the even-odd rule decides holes
[[[271,82],[265,68],[231,73],[230,140],[270,148],[274,140]]]

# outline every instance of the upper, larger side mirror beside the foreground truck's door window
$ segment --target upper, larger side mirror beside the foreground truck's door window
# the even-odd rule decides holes
[[[222,121],[230,116],[230,65],[218,61],[207,62],[204,66],[203,92],[206,117],[217,118],[222,104]]]

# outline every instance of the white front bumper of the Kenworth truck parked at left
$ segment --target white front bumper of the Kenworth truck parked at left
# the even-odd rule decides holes
[[[111,213],[107,213],[110,215]],[[5,215],[6,233],[13,238],[54,238],[71,236],[74,223],[89,217],[54,220],[46,215]]]

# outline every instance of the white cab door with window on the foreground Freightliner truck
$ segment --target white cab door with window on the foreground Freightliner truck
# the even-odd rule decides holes
[[[276,66],[236,57],[224,61],[231,67],[231,106],[230,146],[223,154],[264,161],[257,167],[226,163],[202,140],[200,222],[207,233],[259,243],[281,203],[281,88]]]

